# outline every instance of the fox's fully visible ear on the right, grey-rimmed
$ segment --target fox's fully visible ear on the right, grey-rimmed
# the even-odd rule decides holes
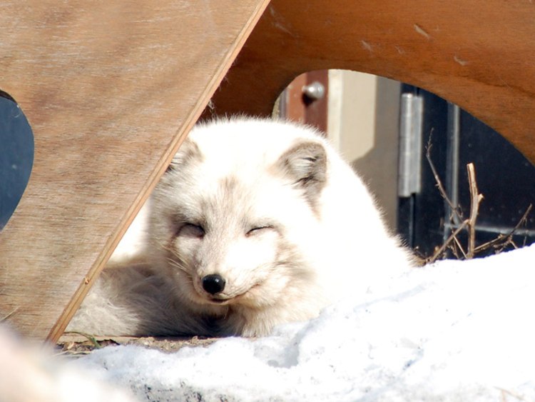
[[[322,144],[301,142],[286,151],[278,165],[294,186],[305,192],[307,201],[314,207],[327,181],[327,153]]]

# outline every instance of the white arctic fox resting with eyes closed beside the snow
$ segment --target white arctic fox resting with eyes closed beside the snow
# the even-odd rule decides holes
[[[138,255],[123,242],[69,329],[263,336],[413,264],[350,166],[288,122],[195,126],[139,219]]]

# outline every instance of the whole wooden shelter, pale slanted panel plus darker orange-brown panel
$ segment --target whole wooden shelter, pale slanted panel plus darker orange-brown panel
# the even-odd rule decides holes
[[[203,116],[267,115],[304,71],[364,71],[453,101],[535,161],[534,20],[520,0],[3,1],[0,90],[35,156],[0,234],[0,318],[61,335],[210,98]]]

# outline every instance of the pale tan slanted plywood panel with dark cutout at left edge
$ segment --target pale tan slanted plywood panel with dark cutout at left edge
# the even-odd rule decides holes
[[[35,159],[0,235],[0,318],[61,335],[265,4],[1,2],[0,89]]]

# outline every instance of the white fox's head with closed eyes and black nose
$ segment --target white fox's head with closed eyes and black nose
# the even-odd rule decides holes
[[[325,147],[308,129],[197,126],[153,194],[158,266],[200,310],[264,308],[283,292],[315,292],[327,174]]]

